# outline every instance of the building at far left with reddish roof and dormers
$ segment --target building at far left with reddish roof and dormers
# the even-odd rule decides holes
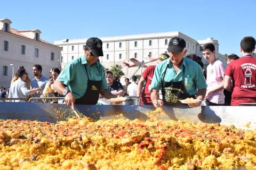
[[[9,19],[0,20],[0,87],[8,89],[18,66],[24,66],[33,79],[34,64],[43,67],[42,74],[49,76],[53,67],[60,67],[61,48],[40,38],[40,30],[15,30]]]

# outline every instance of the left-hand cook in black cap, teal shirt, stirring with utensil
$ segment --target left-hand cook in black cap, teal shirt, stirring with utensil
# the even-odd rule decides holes
[[[54,82],[56,91],[73,108],[75,104],[95,105],[99,94],[107,99],[116,98],[108,91],[104,67],[98,62],[99,56],[103,56],[102,41],[87,39],[84,52],[82,57],[70,61]]]

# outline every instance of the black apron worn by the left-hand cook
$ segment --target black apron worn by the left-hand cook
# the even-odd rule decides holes
[[[85,71],[87,74],[87,89],[86,92],[84,94],[84,96],[82,96],[81,98],[78,98],[75,100],[75,104],[78,105],[95,105],[97,104],[98,100],[99,100],[99,94],[100,94],[100,88],[101,88],[101,80],[96,81],[96,80],[90,80],[89,79],[89,75],[87,73],[86,70],[86,66],[85,67]],[[98,69],[98,67],[97,67]],[[99,72],[99,70],[98,70]],[[100,74],[100,72],[99,72]]]

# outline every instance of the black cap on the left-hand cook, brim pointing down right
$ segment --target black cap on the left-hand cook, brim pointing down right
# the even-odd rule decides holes
[[[99,38],[92,37],[87,39],[85,47],[92,55],[103,56],[102,41]]]

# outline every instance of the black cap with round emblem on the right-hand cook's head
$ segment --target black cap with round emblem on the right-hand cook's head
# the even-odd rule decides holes
[[[168,52],[170,53],[181,53],[186,47],[186,41],[180,37],[171,38],[168,45]]]

